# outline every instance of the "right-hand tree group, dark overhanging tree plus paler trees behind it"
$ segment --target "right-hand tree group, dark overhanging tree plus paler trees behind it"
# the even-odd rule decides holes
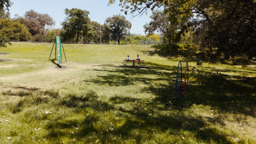
[[[119,5],[133,15],[162,9],[153,11],[146,32],[158,31],[170,44],[194,43],[208,61],[255,61],[255,0],[131,0]]]

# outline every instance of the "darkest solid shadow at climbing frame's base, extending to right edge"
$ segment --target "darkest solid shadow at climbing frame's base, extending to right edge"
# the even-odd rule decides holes
[[[194,81],[190,81],[185,93],[175,92],[174,81],[168,85],[159,84],[145,89],[158,95],[156,101],[178,110],[201,104],[216,107],[223,113],[242,113],[255,117],[255,77],[223,76],[208,71],[190,74]],[[185,100],[173,100],[173,96],[176,97],[177,94],[185,97]]]

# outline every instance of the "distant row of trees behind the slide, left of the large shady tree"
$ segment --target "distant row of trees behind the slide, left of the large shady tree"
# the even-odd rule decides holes
[[[0,19],[1,33],[5,40],[39,41],[51,43],[56,31],[61,31],[62,40],[67,43],[117,43],[117,44],[160,44],[160,35],[135,35],[129,32],[131,22],[125,16],[108,17],[103,25],[91,21],[89,11],[82,9],[65,9],[66,19],[61,29],[50,29],[55,21],[48,14],[34,10],[25,12],[24,16],[15,15],[10,19],[8,11]],[[5,43],[2,43],[5,46]]]

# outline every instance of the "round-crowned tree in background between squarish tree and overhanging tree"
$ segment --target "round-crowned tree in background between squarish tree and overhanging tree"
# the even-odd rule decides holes
[[[106,19],[106,28],[111,33],[112,39],[117,40],[118,44],[120,44],[120,40],[123,39],[128,29],[131,28],[131,22],[127,21],[125,16],[114,15]]]

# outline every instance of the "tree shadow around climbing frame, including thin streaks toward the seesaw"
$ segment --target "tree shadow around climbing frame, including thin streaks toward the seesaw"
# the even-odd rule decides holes
[[[129,86],[142,82],[147,85],[141,92],[156,95],[155,102],[170,105],[175,93],[176,67],[148,63],[150,69],[125,69],[98,70],[107,72],[107,75],[98,75],[95,79],[86,80],[86,83],[109,86]],[[211,68],[212,69],[212,68]],[[237,70],[229,69],[236,73]],[[153,78],[152,75],[154,76]],[[151,77],[150,77],[151,76]],[[175,109],[181,110],[192,104],[210,105],[223,112],[243,113],[255,117],[255,83],[253,77],[239,77],[219,75],[206,71],[206,69],[190,73],[193,81],[185,93],[187,100],[171,102]],[[165,83],[159,83],[162,81]],[[179,94],[178,94],[179,95]]]

